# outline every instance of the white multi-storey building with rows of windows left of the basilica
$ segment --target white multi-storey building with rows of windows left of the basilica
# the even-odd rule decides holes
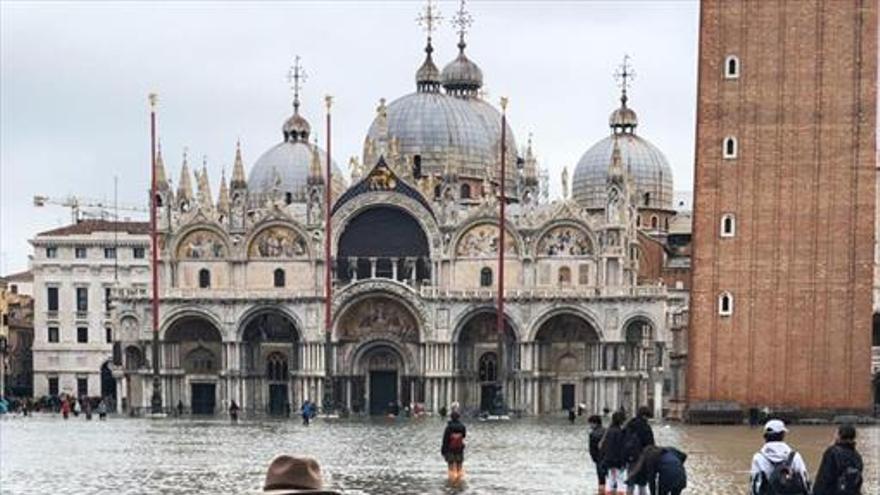
[[[34,395],[117,397],[111,294],[147,287],[148,224],[83,220],[30,242]]]

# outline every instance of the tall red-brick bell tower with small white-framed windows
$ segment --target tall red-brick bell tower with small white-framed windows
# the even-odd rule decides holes
[[[703,0],[688,402],[871,407],[876,0]]]

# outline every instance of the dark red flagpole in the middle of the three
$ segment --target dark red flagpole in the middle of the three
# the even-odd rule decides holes
[[[333,187],[333,167],[330,155],[330,107],[333,104],[333,97],[327,95],[324,97],[324,104],[327,107],[327,163],[326,163],[326,180],[324,184],[324,411],[334,410],[334,390],[333,390],[333,286],[332,286],[332,253],[330,252],[330,240],[332,235],[332,226],[330,222],[330,209],[332,206]]]

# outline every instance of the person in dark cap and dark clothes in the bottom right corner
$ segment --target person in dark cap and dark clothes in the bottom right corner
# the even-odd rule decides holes
[[[813,495],[861,495],[863,467],[856,450],[855,427],[840,425],[834,445],[822,454]]]

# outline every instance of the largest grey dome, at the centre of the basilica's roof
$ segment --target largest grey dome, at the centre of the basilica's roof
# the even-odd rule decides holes
[[[499,167],[501,114],[479,98],[416,92],[391,102],[385,109],[388,138],[397,138],[406,163],[421,157],[423,174],[442,175],[447,162],[460,177],[482,179]],[[384,125],[377,116],[367,142],[380,141]],[[507,187],[516,181],[516,140],[507,126]],[[364,159],[367,158],[366,146]],[[372,164],[367,164],[368,167]]]

